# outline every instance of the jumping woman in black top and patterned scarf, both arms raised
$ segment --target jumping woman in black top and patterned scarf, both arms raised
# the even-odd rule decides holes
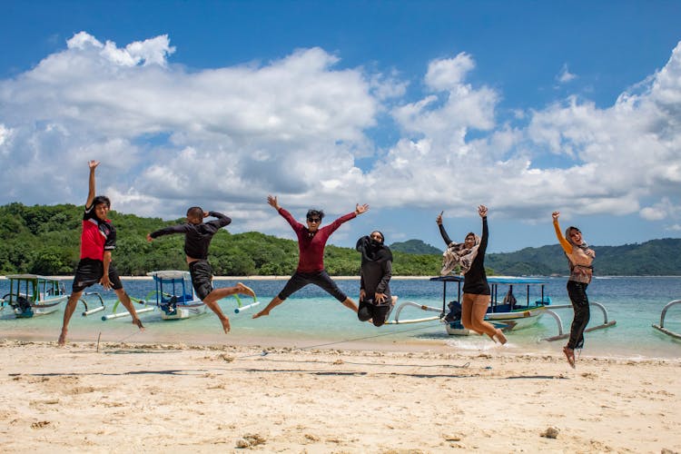
[[[451,271],[456,265],[461,268],[463,274],[463,298],[461,301],[461,323],[464,328],[475,331],[478,334],[487,334],[492,341],[506,343],[506,336],[501,330],[485,321],[485,314],[489,306],[489,284],[485,273],[485,251],[487,250],[488,228],[487,207],[480,205],[478,213],[482,218],[482,238],[473,232],[466,235],[463,243],[452,242],[447,231],[442,225],[442,213],[439,213],[436,222],[439,225],[439,233],[447,244],[445,260],[441,274]]]

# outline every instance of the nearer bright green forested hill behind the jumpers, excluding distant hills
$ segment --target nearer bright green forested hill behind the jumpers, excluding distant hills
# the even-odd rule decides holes
[[[70,204],[0,207],[0,275],[32,272],[73,274],[80,254],[83,207]],[[143,275],[153,270],[184,270],[183,236],[146,241],[146,234],[166,225],[158,218],[110,212],[117,232],[114,264],[122,275]],[[228,227],[229,228],[229,227]],[[212,240],[213,272],[221,276],[289,275],[298,263],[298,245],[259,232],[231,234],[222,229]],[[431,275],[439,271],[440,257],[394,253],[394,273]],[[325,263],[332,275],[358,275],[360,254],[354,249],[329,245]]]

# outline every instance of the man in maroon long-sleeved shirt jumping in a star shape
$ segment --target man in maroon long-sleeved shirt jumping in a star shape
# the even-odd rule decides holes
[[[350,219],[356,218],[362,212],[369,210],[369,205],[357,204],[354,212],[341,216],[336,221],[329,225],[320,228],[321,219],[324,217],[324,212],[318,210],[310,210],[307,214],[308,226],[305,227],[301,222],[293,219],[290,212],[287,212],[277,202],[277,198],[271,195],[267,196],[267,202],[281,214],[281,216],[291,224],[293,232],[298,236],[298,268],[291,276],[291,279],[286,282],[283,290],[270,301],[265,309],[253,315],[253,319],[262,317],[263,315],[270,315],[270,311],[276,306],[279,306],[284,300],[291,296],[295,291],[301,290],[308,284],[315,284],[321,289],[328,291],[336,300],[357,312],[357,304],[350,300],[348,296],[338,288],[336,282],[331,280],[329,273],[324,270],[324,247],[331,233],[335,232],[343,222],[348,222]]]

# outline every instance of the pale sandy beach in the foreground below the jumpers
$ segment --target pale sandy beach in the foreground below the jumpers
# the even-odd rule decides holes
[[[4,452],[680,452],[681,360],[0,341]]]

